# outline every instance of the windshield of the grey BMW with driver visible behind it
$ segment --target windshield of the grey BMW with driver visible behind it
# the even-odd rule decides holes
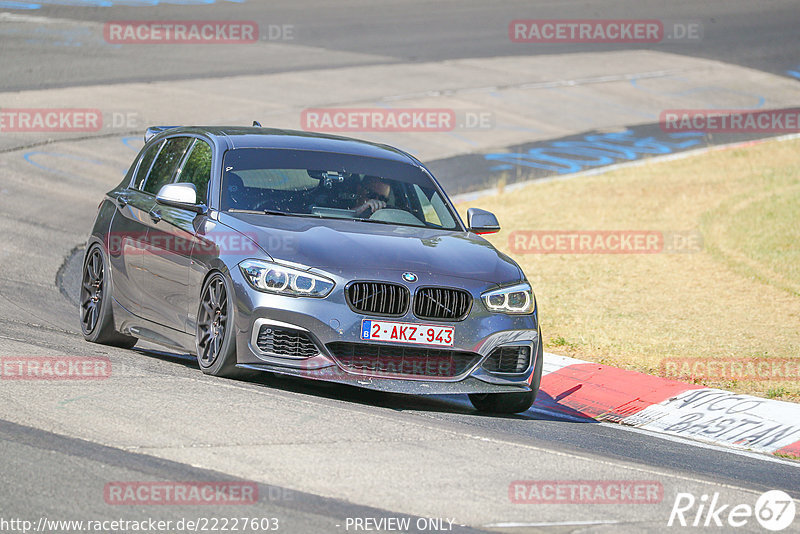
[[[460,230],[431,178],[406,163],[240,148],[223,162],[221,209]]]

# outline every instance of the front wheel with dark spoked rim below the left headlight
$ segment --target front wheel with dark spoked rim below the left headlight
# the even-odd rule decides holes
[[[197,311],[197,363],[207,375],[236,378],[236,334],[234,329],[233,291],[220,272],[208,277]]]

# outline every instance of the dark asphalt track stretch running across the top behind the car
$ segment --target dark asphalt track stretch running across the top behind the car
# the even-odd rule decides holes
[[[110,0],[113,2],[113,0]],[[63,0],[60,3],[80,3]],[[119,4],[120,2],[117,2]],[[145,2],[142,2],[145,3]],[[183,3],[183,2],[175,2]],[[203,4],[203,2],[185,2]],[[16,10],[35,16],[94,21],[108,20],[254,20],[269,38],[269,25],[292,25],[292,40],[307,47],[346,53],[341,59],[318,54],[295,55],[208,51],[202,57],[193,47],[135,49],[108,47],[84,31],[42,32],[22,38],[2,36],[0,89],[63,87],[81,84],[191,79],[236,74],[261,74],[375,61],[362,54],[382,56],[382,62],[439,61],[457,58],[558,54],[591,49],[586,44],[520,44],[508,39],[515,19],[664,19],[699,21],[697,42],[650,45],[603,45],[605,50],[654,49],[710,58],[776,74],[797,70],[800,34],[797,2],[775,0],[675,0],[668,7],[657,0],[544,2],[447,0],[442,2],[297,2],[218,1],[208,5],[153,7],[75,7],[47,5]],[[146,15],[145,15],[146,14]],[[80,54],[75,54],[79,50]],[[316,56],[316,57],[315,57]],[[324,83],[321,80],[320,83]]]

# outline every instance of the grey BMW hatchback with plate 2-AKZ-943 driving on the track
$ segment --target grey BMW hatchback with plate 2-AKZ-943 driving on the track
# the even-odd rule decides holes
[[[236,377],[266,371],[530,408],[533,290],[428,169],[386,145],[261,127],[153,127],[101,202],[84,337],[139,339]]]

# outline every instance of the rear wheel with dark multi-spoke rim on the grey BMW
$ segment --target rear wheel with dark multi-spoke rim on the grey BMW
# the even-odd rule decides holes
[[[130,349],[138,339],[114,329],[111,284],[100,245],[92,245],[83,260],[80,291],[81,332],[86,341]]]

